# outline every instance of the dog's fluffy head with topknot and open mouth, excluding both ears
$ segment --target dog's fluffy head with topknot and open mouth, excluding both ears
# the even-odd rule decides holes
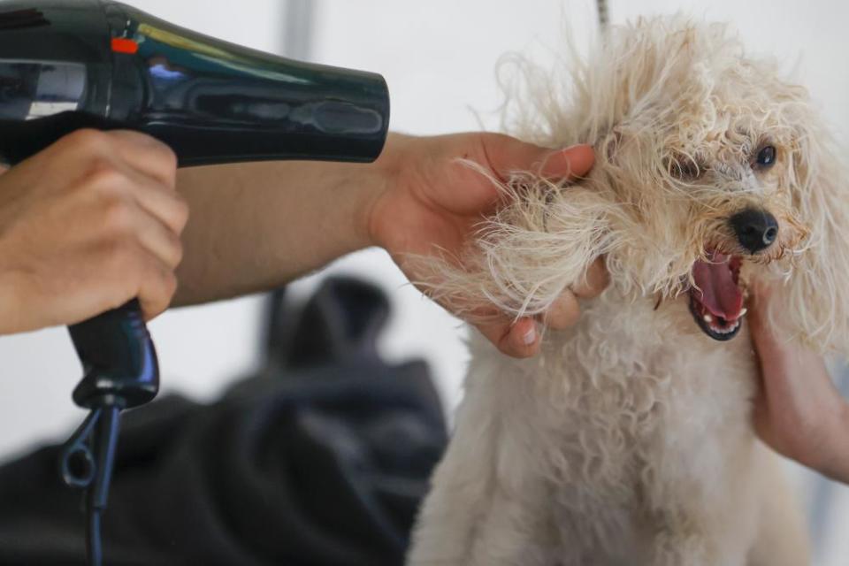
[[[616,30],[584,73],[576,108],[599,108],[581,125],[599,156],[586,187],[619,205],[608,215],[615,280],[685,294],[701,330],[730,340],[747,282],[792,277],[827,229],[814,194],[831,187],[815,170],[831,158],[807,93],[746,58],[726,27],[685,19]],[[826,277],[829,263],[804,269]]]

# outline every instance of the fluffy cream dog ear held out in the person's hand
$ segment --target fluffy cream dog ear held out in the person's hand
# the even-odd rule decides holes
[[[493,307],[516,317],[545,313],[608,248],[610,205],[598,192],[531,173],[493,182],[506,205],[486,218],[462,257],[409,258],[422,274],[415,283],[473,323]]]

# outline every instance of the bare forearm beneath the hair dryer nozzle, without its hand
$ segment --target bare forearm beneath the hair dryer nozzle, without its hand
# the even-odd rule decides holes
[[[390,141],[399,136],[391,136]],[[277,287],[372,244],[371,203],[393,143],[374,164],[267,162],[181,170],[189,203],[175,304]]]

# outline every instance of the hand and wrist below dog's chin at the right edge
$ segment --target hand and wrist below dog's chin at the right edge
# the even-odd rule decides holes
[[[849,403],[821,356],[773,332],[767,319],[772,300],[769,287],[756,287],[748,314],[761,371],[755,432],[779,454],[849,483]]]

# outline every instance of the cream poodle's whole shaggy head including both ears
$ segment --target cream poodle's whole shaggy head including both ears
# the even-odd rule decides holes
[[[746,287],[762,279],[785,333],[845,349],[849,190],[806,90],[746,57],[725,26],[676,17],[609,31],[562,83],[521,62],[505,120],[539,145],[593,144],[593,171],[572,184],[516,173],[509,206],[434,294],[541,314],[605,256],[623,294],[674,299],[715,340],[735,336]]]

